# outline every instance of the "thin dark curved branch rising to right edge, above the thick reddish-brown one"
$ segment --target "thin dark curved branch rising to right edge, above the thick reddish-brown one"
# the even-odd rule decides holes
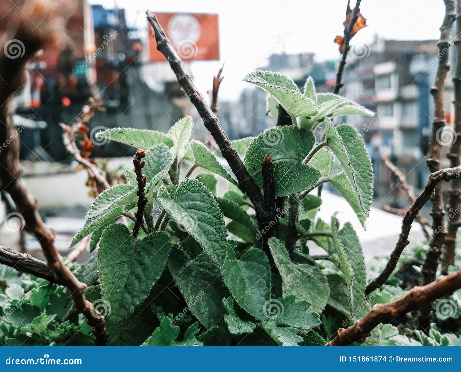
[[[403,216],[402,231],[399,234],[399,238],[394,250],[390,253],[390,258],[386,264],[386,267],[376,279],[374,279],[366,286],[365,294],[370,294],[375,289],[380,288],[396,268],[397,262],[400,258],[400,255],[402,254],[403,249],[410,243],[408,241],[408,234],[410,233],[412,223],[416,216],[418,216],[418,213],[424,204],[426,204],[426,202],[432,197],[437,185],[443,180],[449,181],[459,178],[461,178],[461,166],[455,168],[444,168],[429,175],[429,180],[423,191],[416,198],[410,208],[408,208],[405,216]]]

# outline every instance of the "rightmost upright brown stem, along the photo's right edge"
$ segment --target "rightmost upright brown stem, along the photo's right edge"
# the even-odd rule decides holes
[[[460,165],[461,152],[461,0],[456,2],[456,32],[458,35],[454,39],[456,48],[456,66],[455,74],[453,75],[453,91],[454,91],[454,109],[455,109],[455,136],[447,153],[447,158],[450,162],[450,167]],[[457,139],[457,140],[456,140]],[[449,188],[448,199],[448,231],[445,235],[445,247],[443,250],[443,266],[442,273],[447,274],[448,266],[455,262],[455,242],[456,233],[458,231],[457,223],[460,220],[460,180],[452,180]]]

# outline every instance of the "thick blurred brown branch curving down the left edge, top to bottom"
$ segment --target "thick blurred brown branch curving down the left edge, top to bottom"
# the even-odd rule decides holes
[[[10,39],[16,39],[24,44],[24,54],[16,59],[0,54],[0,142],[9,146],[0,153],[0,179],[2,189],[8,192],[16,205],[18,212],[24,217],[25,230],[35,235],[41,249],[47,258],[47,266],[57,280],[67,287],[73,297],[75,307],[81,312],[87,323],[93,327],[96,336],[96,345],[106,344],[106,330],[104,317],[95,310],[93,304],[85,299],[87,286],[81,283],[63,264],[61,256],[54,245],[55,233],[47,228],[38,214],[36,201],[30,196],[27,189],[20,182],[22,168],[19,165],[19,138],[11,123],[10,100],[15,92],[21,89],[25,81],[25,66],[27,61],[40,49],[55,44],[56,35],[63,35],[62,25],[65,24],[64,14],[68,15],[66,5],[58,4],[47,6],[40,1],[27,3],[17,17],[16,31]],[[41,23],[43,27],[38,30],[34,26]],[[4,48],[1,48],[4,50]]]

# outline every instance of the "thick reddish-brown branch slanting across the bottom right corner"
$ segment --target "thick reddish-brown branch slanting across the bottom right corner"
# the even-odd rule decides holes
[[[461,288],[461,270],[443,276],[424,287],[414,287],[402,298],[373,306],[365,318],[349,328],[340,328],[337,336],[325,346],[347,346],[353,342],[363,342],[380,323],[390,323],[398,315],[406,314],[424,304],[430,304],[442,296],[452,294]]]

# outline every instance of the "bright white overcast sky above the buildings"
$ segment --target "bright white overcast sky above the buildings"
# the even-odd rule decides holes
[[[89,0],[114,7],[114,0]],[[317,60],[338,59],[336,35],[343,34],[347,0],[117,0],[129,24],[145,27],[147,9],[153,12],[203,12],[219,14],[221,61],[193,62],[192,74],[199,90],[211,88],[213,74],[225,60],[219,95],[235,99],[248,86],[242,78],[271,51],[315,52]],[[355,0],[351,0],[351,7]],[[374,35],[387,39],[438,39],[443,0],[362,0],[368,27],[353,39],[371,42]],[[284,45],[279,45],[280,38]]]

